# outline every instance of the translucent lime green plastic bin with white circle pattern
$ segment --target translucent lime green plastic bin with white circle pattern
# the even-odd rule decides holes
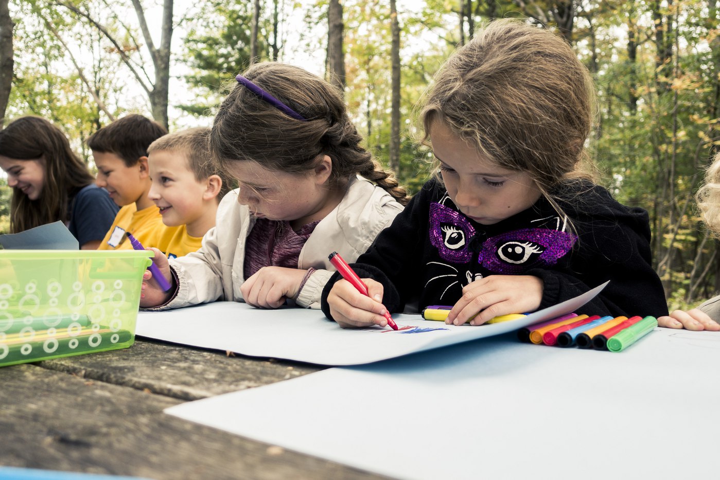
[[[147,250],[0,250],[0,366],[127,348]]]

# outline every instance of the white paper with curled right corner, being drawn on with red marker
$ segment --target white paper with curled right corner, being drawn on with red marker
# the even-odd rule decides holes
[[[243,355],[286,358],[321,365],[359,365],[430,350],[559,317],[575,311],[606,284],[575,299],[529,314],[521,320],[472,327],[445,325],[419,315],[397,314],[404,330],[390,327],[344,330],[320,310],[256,309],[237,302],[214,302],[165,312],[140,312],[136,335]],[[411,328],[417,327],[417,328]]]

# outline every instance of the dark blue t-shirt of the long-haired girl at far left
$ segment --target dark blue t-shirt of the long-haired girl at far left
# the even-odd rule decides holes
[[[95,184],[83,187],[70,201],[68,230],[82,247],[93,240],[102,240],[112,226],[120,209],[107,194]]]

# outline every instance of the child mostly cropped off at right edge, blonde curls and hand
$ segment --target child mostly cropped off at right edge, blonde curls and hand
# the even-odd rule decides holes
[[[720,237],[720,154],[705,173],[705,184],[695,196],[703,221],[715,237]],[[673,310],[667,317],[657,319],[657,325],[688,330],[720,332],[720,295],[708,299],[697,308]]]

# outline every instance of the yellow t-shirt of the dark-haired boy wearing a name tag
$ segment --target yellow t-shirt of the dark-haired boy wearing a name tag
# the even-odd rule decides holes
[[[135,204],[125,205],[115,215],[115,221],[102,239],[98,250],[131,250],[130,240],[127,240],[125,235],[125,232],[130,232],[143,247],[155,247],[166,252],[180,228],[184,230],[185,226],[167,227],[156,205],[140,211],[135,209]]]

